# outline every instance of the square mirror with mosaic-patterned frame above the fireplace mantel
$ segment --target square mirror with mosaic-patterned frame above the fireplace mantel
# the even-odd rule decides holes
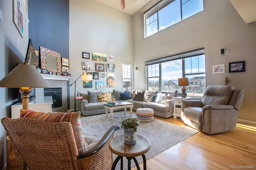
[[[40,46],[40,59],[42,69],[61,73],[61,56],[60,53]]]

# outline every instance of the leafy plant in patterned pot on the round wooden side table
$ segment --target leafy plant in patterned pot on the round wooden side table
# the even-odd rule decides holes
[[[137,118],[123,119],[122,125],[124,128],[124,143],[128,145],[136,144],[137,127],[140,125],[140,120]]]

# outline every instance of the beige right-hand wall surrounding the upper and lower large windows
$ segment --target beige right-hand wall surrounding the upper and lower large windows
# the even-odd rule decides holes
[[[239,119],[256,121],[256,22],[245,24],[228,0],[204,0],[204,11],[148,38],[144,38],[143,13],[149,3],[133,16],[135,89],[145,89],[145,61],[205,48],[206,85],[228,85],[244,89]],[[228,49],[221,55],[220,49]],[[246,72],[228,73],[228,63],[246,61]],[[212,74],[212,65],[225,64],[225,73]]]

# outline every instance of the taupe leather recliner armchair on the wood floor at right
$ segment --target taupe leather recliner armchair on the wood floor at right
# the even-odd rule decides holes
[[[190,127],[208,134],[232,130],[236,127],[238,110],[244,90],[232,86],[209,85],[202,100],[182,100],[181,119]]]

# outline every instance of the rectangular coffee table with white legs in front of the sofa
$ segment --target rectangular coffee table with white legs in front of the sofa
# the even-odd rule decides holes
[[[106,109],[106,117],[108,117],[108,109],[110,110],[110,119],[113,119],[113,110],[114,109],[121,109],[124,108],[124,114],[126,114],[126,108],[130,108],[130,117],[132,116],[132,108],[133,103],[130,103],[128,101],[118,101],[117,105],[106,105],[104,104],[104,108]]]

